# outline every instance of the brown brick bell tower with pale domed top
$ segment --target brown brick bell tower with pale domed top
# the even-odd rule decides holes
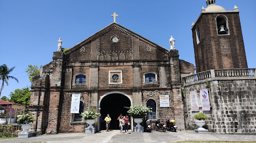
[[[239,10],[226,10],[207,0],[192,24],[196,71],[248,68]]]

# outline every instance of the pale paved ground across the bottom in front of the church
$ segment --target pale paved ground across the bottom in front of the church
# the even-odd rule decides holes
[[[152,131],[152,133],[134,133],[121,134],[119,130],[114,131],[100,131],[100,133],[86,135],[84,133],[62,133],[56,135],[41,135],[26,139],[8,139],[0,140],[0,142],[175,142],[175,141],[255,141],[256,135],[234,135],[234,134],[216,134],[206,133],[198,134],[194,131],[178,131],[160,132]]]

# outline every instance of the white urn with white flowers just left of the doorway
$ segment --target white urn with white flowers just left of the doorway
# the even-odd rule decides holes
[[[87,124],[89,124],[89,127],[87,128],[94,128],[93,124],[95,123],[95,118],[100,116],[100,113],[97,113],[96,109],[90,108],[81,113],[81,116],[84,118],[84,120],[86,120]]]

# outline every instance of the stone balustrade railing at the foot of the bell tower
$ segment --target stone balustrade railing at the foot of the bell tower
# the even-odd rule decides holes
[[[212,69],[183,78],[184,83],[191,83],[209,78],[255,77],[255,69]]]

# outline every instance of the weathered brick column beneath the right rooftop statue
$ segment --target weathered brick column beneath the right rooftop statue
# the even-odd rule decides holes
[[[170,50],[170,73],[173,94],[173,113],[178,129],[185,129],[184,105],[182,101],[182,84],[180,80],[180,63],[178,50]]]

